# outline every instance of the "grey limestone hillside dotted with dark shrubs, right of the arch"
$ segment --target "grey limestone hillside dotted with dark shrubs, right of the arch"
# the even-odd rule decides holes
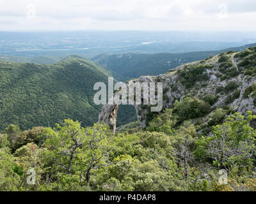
[[[204,61],[183,64],[162,75],[143,76],[132,82],[163,82],[163,107],[173,108],[180,122],[193,120],[198,129],[207,131],[207,127],[218,124],[232,112],[256,112],[255,75],[256,47],[243,52],[223,52]],[[191,106],[193,111],[189,110]],[[145,128],[156,113],[150,112],[147,105],[134,107]],[[106,107],[104,112],[108,112]]]

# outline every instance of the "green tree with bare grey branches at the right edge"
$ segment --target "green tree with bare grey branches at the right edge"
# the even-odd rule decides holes
[[[250,121],[256,119],[252,112],[247,116],[234,113],[222,125],[213,128],[213,135],[197,142],[196,156],[212,159],[217,168],[228,170],[231,166],[250,168],[255,161],[255,129]]]

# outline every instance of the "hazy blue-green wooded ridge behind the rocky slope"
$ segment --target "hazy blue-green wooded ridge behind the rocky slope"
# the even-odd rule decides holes
[[[229,50],[242,51],[249,47],[255,47],[256,43],[242,47],[227,48],[216,51],[188,52],[181,54],[100,54],[92,58],[92,61],[113,71],[118,80],[125,81],[138,78],[143,75],[159,75],[181,64],[203,60],[210,55],[217,55]]]

